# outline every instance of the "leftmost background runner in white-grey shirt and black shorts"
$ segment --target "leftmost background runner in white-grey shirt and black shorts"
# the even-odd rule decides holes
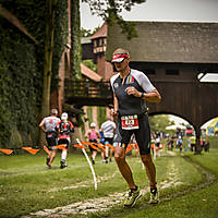
[[[58,122],[60,122],[60,119],[57,118],[58,110],[51,109],[51,114],[49,117],[46,117],[43,119],[43,121],[39,124],[39,128],[46,133],[46,141],[47,141],[47,148],[49,150],[48,157],[46,159],[46,165],[50,168],[51,162],[53,161],[57,153],[57,148],[53,147],[57,145],[57,132],[55,130]]]

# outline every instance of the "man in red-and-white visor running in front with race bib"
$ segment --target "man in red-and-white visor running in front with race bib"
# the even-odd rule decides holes
[[[156,168],[150,155],[150,129],[145,101],[159,102],[161,97],[143,72],[130,69],[130,55],[126,50],[117,49],[112,55],[112,62],[119,72],[110,78],[114,105],[112,113],[118,116],[113,144],[114,158],[121,174],[130,186],[124,206],[133,207],[141,197],[140,187],[135,184],[132,171],[125,161],[125,149],[133,133],[150,183],[149,204],[157,204],[159,196]]]

